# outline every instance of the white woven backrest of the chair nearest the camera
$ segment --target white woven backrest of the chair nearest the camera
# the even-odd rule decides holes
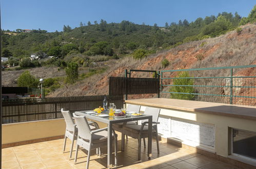
[[[76,116],[74,113],[73,116],[75,119],[76,126],[78,128],[78,137],[83,138],[85,140],[90,140],[91,128],[85,116]]]

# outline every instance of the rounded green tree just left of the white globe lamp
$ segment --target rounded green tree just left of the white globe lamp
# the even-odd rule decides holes
[[[17,86],[19,87],[28,87],[28,88],[37,88],[39,80],[36,79],[29,71],[23,72],[17,79]]]

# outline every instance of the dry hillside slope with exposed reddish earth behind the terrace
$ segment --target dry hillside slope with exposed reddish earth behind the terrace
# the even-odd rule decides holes
[[[192,41],[162,53],[154,54],[142,60],[125,57],[117,61],[107,62],[109,69],[77,82],[73,86],[60,88],[49,97],[84,96],[108,94],[108,78],[124,77],[125,69],[139,70],[171,70],[189,68],[225,67],[256,64],[256,25],[245,25],[240,34],[231,31],[225,35]],[[166,58],[170,64],[162,67]],[[235,70],[235,75],[255,76],[255,69]],[[198,72],[194,76],[225,76],[228,71]],[[167,76],[175,76],[169,74]],[[152,77],[152,74],[134,73],[132,77]]]

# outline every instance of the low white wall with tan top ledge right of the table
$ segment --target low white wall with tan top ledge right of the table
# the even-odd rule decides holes
[[[160,108],[159,133],[214,154],[230,155],[230,129],[256,132],[256,107],[165,98],[126,100]]]

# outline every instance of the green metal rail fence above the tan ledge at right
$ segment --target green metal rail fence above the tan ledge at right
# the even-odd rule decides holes
[[[180,72],[189,76],[180,77]],[[256,65],[164,70],[160,75],[164,98],[256,105]]]

